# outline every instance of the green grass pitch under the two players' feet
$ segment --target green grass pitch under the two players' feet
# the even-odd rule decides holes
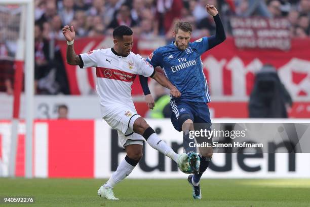
[[[103,179],[0,179],[2,206],[310,206],[310,179],[203,179],[193,200],[185,179],[126,179],[114,188],[118,201],[97,197]],[[4,197],[33,196],[32,204],[6,204]]]

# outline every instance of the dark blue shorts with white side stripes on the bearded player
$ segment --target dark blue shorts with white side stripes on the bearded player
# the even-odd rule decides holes
[[[182,131],[182,124],[179,117],[182,114],[188,114],[193,123],[211,123],[210,112],[207,103],[192,102],[186,100],[170,101],[171,122],[174,128]]]

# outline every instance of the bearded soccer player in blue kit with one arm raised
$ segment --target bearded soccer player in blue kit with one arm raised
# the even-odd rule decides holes
[[[216,24],[216,34],[190,42],[192,28],[190,23],[179,21],[175,25],[175,41],[153,51],[147,61],[153,66],[160,66],[169,79],[181,92],[179,98],[170,100],[171,122],[178,131],[183,131],[183,148],[185,152],[196,154],[196,147],[190,147],[189,131],[194,130],[193,123],[207,123],[211,129],[211,119],[207,103],[211,101],[206,77],[203,73],[201,55],[226,39],[223,24],[217,9],[213,5],[206,6],[207,12],[213,16]],[[140,76],[146,101],[149,108],[153,107],[152,97],[147,86],[147,78]],[[209,130],[208,129],[208,130]],[[192,146],[192,145],[191,145]],[[199,148],[199,169],[192,169],[188,182],[192,186],[192,196],[201,199],[199,181],[206,171],[211,158],[212,148]],[[197,154],[196,154],[197,155]],[[190,172],[189,172],[190,173]]]

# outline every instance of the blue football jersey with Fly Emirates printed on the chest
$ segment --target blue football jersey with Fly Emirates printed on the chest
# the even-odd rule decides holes
[[[153,67],[163,68],[166,77],[181,92],[181,100],[210,102],[208,83],[200,57],[208,49],[207,37],[189,43],[185,50],[179,50],[172,43],[153,51],[147,61]]]

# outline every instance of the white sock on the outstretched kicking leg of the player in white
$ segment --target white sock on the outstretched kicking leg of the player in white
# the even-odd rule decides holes
[[[178,162],[179,155],[171,149],[164,141],[160,139],[160,137],[156,133],[152,133],[148,139],[147,143],[154,149],[160,151],[167,157],[170,157],[176,163]]]

